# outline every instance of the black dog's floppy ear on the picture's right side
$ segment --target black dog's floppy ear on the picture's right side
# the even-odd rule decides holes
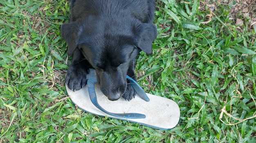
[[[152,54],[152,42],[157,37],[157,28],[153,24],[143,23],[135,30],[135,45],[146,54]]]

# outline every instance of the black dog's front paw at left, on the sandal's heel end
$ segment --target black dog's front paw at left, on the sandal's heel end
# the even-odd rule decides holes
[[[67,75],[65,78],[67,87],[72,91],[77,91],[83,88],[87,84],[87,74],[88,69],[71,65],[67,70]]]

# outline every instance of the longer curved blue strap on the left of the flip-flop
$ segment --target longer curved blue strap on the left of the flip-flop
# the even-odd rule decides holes
[[[97,96],[95,93],[95,84],[97,83],[96,78],[92,77],[88,80],[87,84],[88,84],[88,92],[89,92],[89,96],[90,99],[92,101],[92,104],[94,104],[94,106],[96,106],[99,110],[115,116],[115,117],[119,117],[119,118],[127,118],[127,119],[139,119],[139,118],[146,118],[146,115],[144,114],[139,114],[139,113],[124,113],[124,114],[117,114],[117,113],[110,113],[108,111],[106,111],[105,109],[103,109],[98,101],[97,101]],[[136,91],[137,92],[137,91]]]

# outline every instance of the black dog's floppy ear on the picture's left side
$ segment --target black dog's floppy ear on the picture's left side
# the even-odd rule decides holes
[[[78,25],[76,22],[65,23],[61,26],[61,36],[67,42],[69,55],[72,55],[77,46]]]

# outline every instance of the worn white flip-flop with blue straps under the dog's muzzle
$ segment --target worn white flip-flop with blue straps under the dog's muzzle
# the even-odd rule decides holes
[[[127,120],[161,130],[174,128],[180,119],[180,108],[173,100],[145,93],[129,76],[127,79],[138,95],[130,101],[124,98],[117,101],[108,100],[97,84],[94,69],[90,69],[87,78],[87,85],[79,91],[72,91],[66,85],[67,94],[72,102],[85,112]]]

